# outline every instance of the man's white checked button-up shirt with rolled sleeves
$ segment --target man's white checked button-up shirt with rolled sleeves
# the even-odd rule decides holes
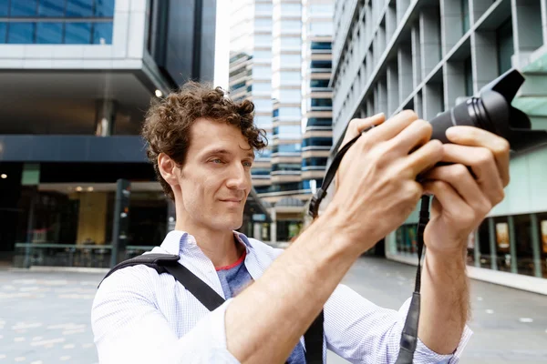
[[[247,250],[244,264],[254,280],[283,252],[234,234]],[[151,252],[179,255],[182,265],[224,298],[212,261],[191,235],[171,231]],[[170,274],[146,266],[120,269],[102,282],[93,302],[99,362],[239,363],[226,349],[224,312],[232,299],[209,311]],[[395,363],[409,301],[398,311],[380,308],[339,285],[324,307],[324,362],[330,349],[353,363]],[[470,335],[466,326],[453,355],[439,355],[418,339],[414,363],[457,363]]]

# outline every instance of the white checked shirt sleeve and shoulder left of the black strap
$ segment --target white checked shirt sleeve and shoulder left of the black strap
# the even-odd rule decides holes
[[[137,269],[148,268],[125,268],[105,279],[93,302],[91,325],[101,364],[239,364],[226,348],[224,314],[231,299],[179,339],[153,301],[150,273],[136,274]]]

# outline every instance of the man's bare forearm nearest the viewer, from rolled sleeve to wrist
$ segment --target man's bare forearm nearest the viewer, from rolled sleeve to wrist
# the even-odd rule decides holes
[[[361,253],[319,217],[226,310],[228,349],[243,363],[281,363]]]

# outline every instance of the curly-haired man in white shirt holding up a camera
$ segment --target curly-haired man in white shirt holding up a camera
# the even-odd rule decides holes
[[[408,301],[399,311],[379,308],[339,282],[424,193],[435,199],[414,360],[457,362],[470,338],[466,241],[503,198],[509,145],[459,126],[447,132],[453,144],[429,141],[431,126],[411,111],[352,120],[346,140],[373,125],[344,157],[325,212],[281,251],[234,231],[253,151],[264,147],[253,104],[191,83],[152,106],[143,136],[177,214],[175,230],[152,251],[179,255],[228,299],[210,312],[169,274],[120,269],[93,304],[100,362],[304,363],[302,336],[324,309],[324,358],[331,349],[356,363],[394,363]],[[434,167],[440,161],[451,164]]]

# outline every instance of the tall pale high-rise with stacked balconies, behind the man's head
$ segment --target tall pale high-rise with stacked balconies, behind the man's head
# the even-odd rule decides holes
[[[269,140],[252,173],[257,194],[270,205],[274,221],[256,224],[256,231],[262,231],[263,240],[288,241],[302,227],[304,203],[321,183],[325,151],[332,145],[332,95],[327,84],[333,2],[235,4],[232,97],[253,100],[255,122]]]

